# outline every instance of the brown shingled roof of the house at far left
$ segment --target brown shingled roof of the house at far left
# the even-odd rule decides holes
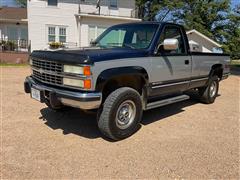
[[[16,7],[0,7],[0,21],[9,22],[26,22],[27,21],[27,9]]]

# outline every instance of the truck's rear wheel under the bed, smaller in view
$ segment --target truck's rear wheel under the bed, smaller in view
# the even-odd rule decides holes
[[[219,89],[219,80],[217,76],[213,76],[209,79],[208,85],[206,87],[201,87],[198,89],[200,100],[205,104],[214,103]]]

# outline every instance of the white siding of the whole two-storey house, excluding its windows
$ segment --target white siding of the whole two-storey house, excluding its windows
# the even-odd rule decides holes
[[[64,26],[67,29],[68,43],[78,46],[88,45],[88,26],[101,25],[109,27],[113,24],[129,22],[129,20],[106,20],[105,18],[76,17],[76,14],[97,13],[96,0],[58,0],[58,6],[48,6],[47,0],[28,1],[28,28],[31,50],[48,48],[48,26]],[[119,0],[118,8],[111,10],[109,0],[102,0],[101,15],[131,17],[135,9],[134,0]]]

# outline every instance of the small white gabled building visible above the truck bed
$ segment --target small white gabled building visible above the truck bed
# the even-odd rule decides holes
[[[187,32],[191,51],[221,53],[221,45],[193,29]]]

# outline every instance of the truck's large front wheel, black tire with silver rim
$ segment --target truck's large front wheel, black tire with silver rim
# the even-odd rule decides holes
[[[99,116],[100,131],[113,140],[131,136],[142,118],[142,102],[139,93],[128,87],[113,91],[105,100]]]

